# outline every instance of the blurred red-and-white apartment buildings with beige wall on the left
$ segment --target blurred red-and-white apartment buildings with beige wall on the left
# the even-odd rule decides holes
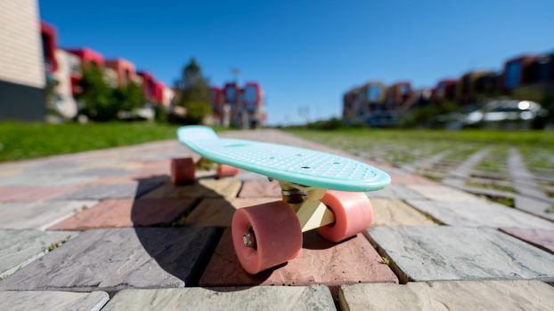
[[[137,72],[129,60],[105,59],[85,47],[61,48],[56,28],[39,20],[36,0],[0,1],[0,120],[44,121],[48,110],[63,119],[75,118],[82,68],[88,66],[102,68],[114,88],[141,85],[151,105],[167,107],[173,99],[172,89],[149,72]],[[53,99],[45,99],[50,93]]]

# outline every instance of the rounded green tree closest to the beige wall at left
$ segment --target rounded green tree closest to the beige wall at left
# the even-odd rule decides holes
[[[109,121],[118,117],[119,105],[113,89],[104,81],[102,68],[89,64],[83,67],[79,81],[81,92],[77,100],[83,102],[82,112],[92,120]]]

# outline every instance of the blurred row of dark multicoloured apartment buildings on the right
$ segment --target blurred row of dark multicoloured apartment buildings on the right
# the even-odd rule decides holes
[[[501,72],[470,71],[460,78],[440,80],[430,89],[413,90],[409,82],[387,87],[371,81],[343,95],[342,116],[347,125],[387,127],[394,126],[403,113],[437,102],[469,107],[512,96],[539,103],[554,96],[554,53],[518,56],[507,60]]]

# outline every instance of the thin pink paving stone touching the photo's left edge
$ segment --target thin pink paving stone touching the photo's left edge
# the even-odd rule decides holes
[[[56,187],[0,187],[0,202],[40,201],[77,190],[78,186]]]

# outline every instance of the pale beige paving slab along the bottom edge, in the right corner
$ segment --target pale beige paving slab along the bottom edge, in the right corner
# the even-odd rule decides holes
[[[340,286],[343,310],[551,310],[554,288],[540,281],[465,281]]]

